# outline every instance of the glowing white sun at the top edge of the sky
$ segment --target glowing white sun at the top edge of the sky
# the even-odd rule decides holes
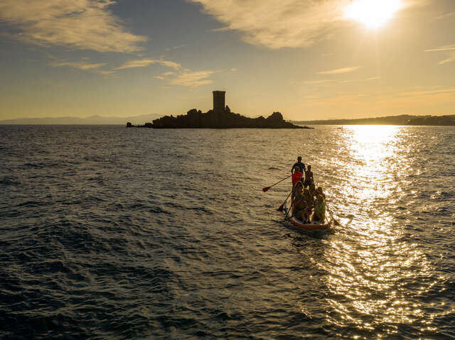
[[[355,0],[346,6],[344,16],[368,28],[379,28],[401,9],[400,0]]]

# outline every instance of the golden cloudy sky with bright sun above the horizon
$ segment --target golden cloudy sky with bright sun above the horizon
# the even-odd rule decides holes
[[[455,114],[454,0],[2,0],[0,120]]]

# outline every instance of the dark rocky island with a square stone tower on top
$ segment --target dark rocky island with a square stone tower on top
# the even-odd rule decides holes
[[[225,91],[213,91],[213,109],[203,113],[191,109],[185,115],[163,116],[152,123],[134,126],[127,123],[127,128],[310,128],[297,126],[283,119],[280,112],[274,112],[267,118],[259,116],[249,118],[230,111],[225,105]]]

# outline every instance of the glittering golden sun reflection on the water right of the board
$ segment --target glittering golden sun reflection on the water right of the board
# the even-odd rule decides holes
[[[338,297],[327,299],[333,309],[329,321],[358,329],[356,339],[398,334],[400,325],[416,322],[431,329],[437,316],[424,315],[419,301],[438,283],[432,263],[404,237],[402,221],[390,209],[407,192],[402,175],[411,167],[401,129],[347,126],[342,131],[339,175],[348,178],[343,204],[353,217],[340,237],[326,240],[326,256],[316,265],[328,273],[331,297]]]

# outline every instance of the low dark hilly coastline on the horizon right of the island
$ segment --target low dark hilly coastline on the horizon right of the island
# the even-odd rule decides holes
[[[328,119],[319,121],[292,121],[294,124],[304,125],[433,125],[455,126],[455,114],[450,116],[387,116],[363,119]]]

